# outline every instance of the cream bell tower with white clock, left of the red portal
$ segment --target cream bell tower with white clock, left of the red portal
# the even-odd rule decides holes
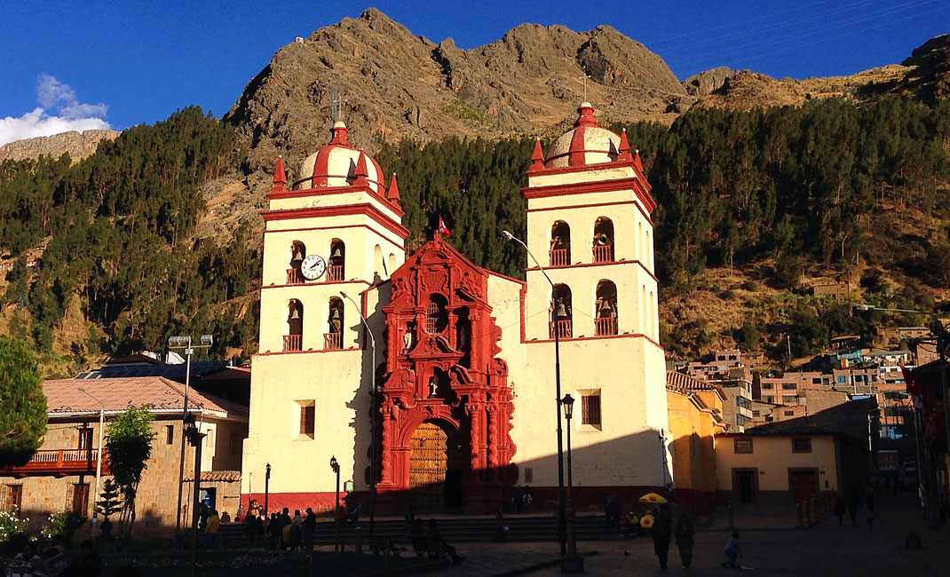
[[[268,200],[241,491],[262,503],[268,474],[271,510],[333,509],[332,456],[355,490],[367,487],[369,458],[357,448],[370,446],[380,360],[361,315],[380,340],[379,291],[369,289],[406,260],[409,231],[395,175],[387,188],[379,164],[350,144],[339,121],[290,183],[277,160]]]

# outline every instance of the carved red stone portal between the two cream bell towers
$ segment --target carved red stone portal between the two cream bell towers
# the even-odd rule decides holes
[[[409,495],[421,509],[494,510],[517,471],[488,273],[436,233],[391,281],[380,500]]]

